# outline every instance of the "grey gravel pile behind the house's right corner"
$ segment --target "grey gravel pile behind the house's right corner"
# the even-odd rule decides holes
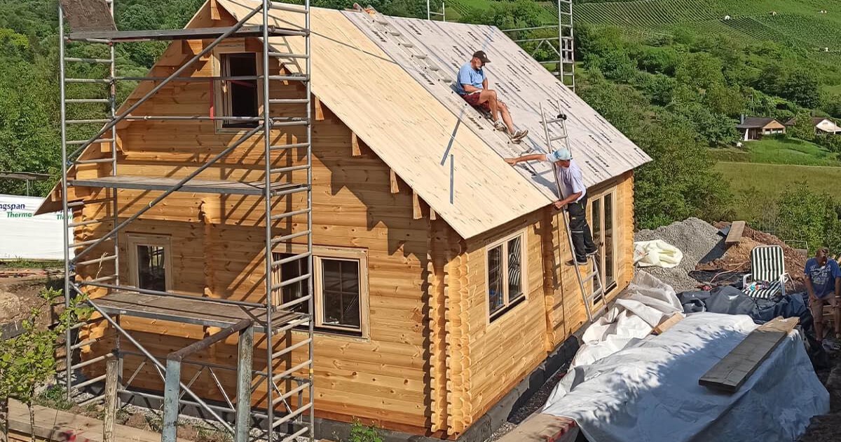
[[[678,293],[693,290],[698,285],[698,281],[689,276],[689,272],[695,270],[698,263],[721,258],[725,251],[724,237],[718,234],[718,229],[698,218],[688,218],[685,221],[673,222],[669,226],[658,227],[655,230],[641,230],[634,234],[634,241],[654,239],[662,239],[680,248],[684,258],[672,269],[647,267],[643,271],[671,285]]]

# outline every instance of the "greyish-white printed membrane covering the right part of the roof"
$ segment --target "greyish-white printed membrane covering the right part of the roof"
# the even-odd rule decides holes
[[[642,149],[563,86],[500,29],[353,11],[345,11],[344,14],[447,109],[458,115],[465,123],[464,127],[482,138],[500,157],[547,152],[540,114],[542,104],[549,118],[558,114],[558,106],[568,116],[569,143],[584,172],[584,184],[599,184],[651,161]],[[444,75],[453,80],[459,67],[470,60],[474,51],[485,51],[491,60],[484,68],[489,77],[489,87],[500,93],[500,99],[508,104],[517,128],[529,130],[527,139],[519,145],[511,144],[507,136],[492,130],[489,122],[484,121],[478,111],[455,93],[452,83],[436,80],[435,73],[430,72],[418,58],[412,57],[412,50],[399,45],[399,37],[383,32],[383,27],[374,23],[375,19],[388,22],[387,27],[394,27],[389,30],[399,32],[402,38],[418,48],[416,54],[430,57]],[[560,124],[549,126],[552,136],[561,135],[560,129]],[[556,148],[559,143],[556,141]],[[532,162],[517,169],[548,198],[554,198],[555,183],[550,164]]]

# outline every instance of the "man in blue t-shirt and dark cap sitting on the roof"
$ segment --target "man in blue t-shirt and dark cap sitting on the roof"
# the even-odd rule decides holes
[[[488,88],[488,77],[484,74],[485,63],[489,63],[484,51],[476,51],[473,58],[458,70],[456,92],[474,108],[486,109],[494,121],[496,130],[505,130],[511,141],[520,142],[528,135],[528,130],[515,130],[508,106],[496,97],[496,91]],[[500,121],[500,113],[502,121]],[[503,124],[503,121],[505,122]]]

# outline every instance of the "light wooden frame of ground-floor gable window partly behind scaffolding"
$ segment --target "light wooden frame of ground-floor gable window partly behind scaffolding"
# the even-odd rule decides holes
[[[272,249],[272,253],[305,253],[307,248],[304,244],[279,244]],[[330,246],[313,246],[313,274],[312,274],[312,295],[313,295],[313,318],[315,319],[315,331],[351,338],[370,337],[370,322],[368,321],[370,303],[368,301],[370,290],[368,286],[368,250],[364,248],[340,248]],[[303,258],[305,259],[305,258]],[[322,281],[322,259],[335,259],[345,261],[357,261],[359,263],[359,329],[335,326],[324,323],[324,287]]]

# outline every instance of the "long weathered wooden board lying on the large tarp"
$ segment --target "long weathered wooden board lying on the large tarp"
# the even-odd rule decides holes
[[[798,318],[776,317],[759,326],[706,372],[698,384],[733,393],[748,380],[768,355],[797,325]]]

